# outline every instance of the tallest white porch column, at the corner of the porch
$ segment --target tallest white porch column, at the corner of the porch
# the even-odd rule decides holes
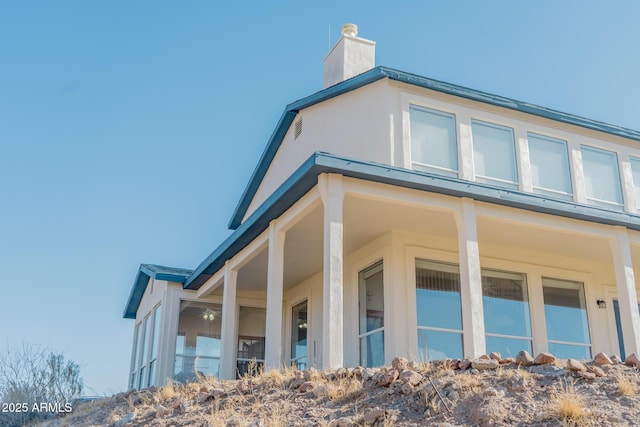
[[[322,174],[318,188],[324,205],[324,252],[322,267],[322,367],[343,365],[343,224],[342,175]]]

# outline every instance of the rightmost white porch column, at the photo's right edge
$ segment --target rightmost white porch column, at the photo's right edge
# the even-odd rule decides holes
[[[640,353],[640,313],[638,313],[638,296],[631,262],[629,236],[625,227],[616,226],[615,230],[616,237],[611,241],[611,249],[620,304],[624,351],[627,355],[634,352],[638,354]]]

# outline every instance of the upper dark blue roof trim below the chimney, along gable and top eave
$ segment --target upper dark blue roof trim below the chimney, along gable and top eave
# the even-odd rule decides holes
[[[246,214],[251,200],[253,199],[256,191],[258,191],[258,187],[260,186],[262,179],[267,173],[269,165],[273,161],[278,148],[280,148],[280,145],[282,144],[289,126],[300,110],[310,107],[319,102],[342,95],[343,93],[358,89],[362,86],[368,85],[383,78],[389,78],[391,80],[396,80],[425,89],[431,89],[448,95],[459,96],[461,98],[483,102],[485,104],[495,105],[498,107],[508,108],[546,119],[555,120],[561,123],[580,126],[586,129],[640,141],[640,132],[632,129],[610,125],[604,122],[599,122],[597,120],[591,120],[572,114],[562,113],[560,111],[541,107],[535,104],[529,104],[527,102],[517,101],[510,98],[505,98],[503,96],[493,95],[487,92],[469,89],[467,87],[458,86],[439,80],[429,79],[427,77],[406,73],[404,71],[394,70],[392,68],[376,67],[370,71],[367,71],[366,73],[355,76],[349,80],[338,83],[311,96],[287,105],[284,113],[282,114],[282,117],[276,125],[275,131],[271,135],[271,138],[269,138],[267,147],[262,153],[258,165],[253,171],[251,179],[249,180],[249,184],[245,188],[242,197],[240,198],[240,201],[236,206],[235,211],[233,212],[231,221],[229,222],[229,228],[236,229],[242,223],[242,218]]]

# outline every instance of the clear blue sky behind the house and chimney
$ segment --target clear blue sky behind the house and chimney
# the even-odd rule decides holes
[[[378,65],[640,129],[638,16],[635,0],[0,0],[0,346],[63,351],[88,394],[124,389],[138,265],[195,268],[229,234],[343,23]]]

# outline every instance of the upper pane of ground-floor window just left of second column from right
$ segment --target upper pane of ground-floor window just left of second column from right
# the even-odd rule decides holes
[[[458,266],[416,260],[418,326],[462,329]]]

